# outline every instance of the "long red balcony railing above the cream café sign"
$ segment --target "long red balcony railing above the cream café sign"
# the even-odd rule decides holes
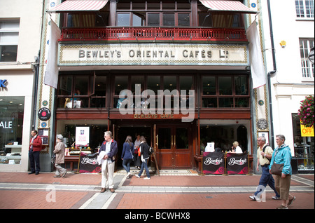
[[[114,27],[62,29],[59,41],[247,41],[245,29]]]

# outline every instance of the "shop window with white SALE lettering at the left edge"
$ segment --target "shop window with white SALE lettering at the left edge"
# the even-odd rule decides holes
[[[0,164],[20,164],[25,97],[0,97]]]

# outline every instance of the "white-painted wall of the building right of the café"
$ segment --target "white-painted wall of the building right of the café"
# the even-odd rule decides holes
[[[293,152],[292,114],[297,113],[300,101],[314,95],[314,78],[303,79],[300,58],[300,38],[314,39],[314,18],[300,19],[295,13],[294,0],[270,0],[276,74],[271,78],[274,135],[285,135]],[[267,0],[262,0],[265,56],[267,72],[273,71]],[[286,41],[286,46],[280,46]],[[275,137],[274,137],[275,140]],[[276,145],[276,142],[274,142]]]

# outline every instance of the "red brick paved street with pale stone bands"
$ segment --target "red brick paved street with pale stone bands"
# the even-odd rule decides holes
[[[187,171],[187,170],[186,170]],[[136,170],[134,170],[136,173]],[[115,173],[116,193],[99,193],[99,174],[0,173],[0,209],[275,209],[269,187],[265,200],[251,201],[260,175],[152,175],[151,180]],[[293,175],[290,187],[296,201],[289,209],[314,210],[314,175]]]

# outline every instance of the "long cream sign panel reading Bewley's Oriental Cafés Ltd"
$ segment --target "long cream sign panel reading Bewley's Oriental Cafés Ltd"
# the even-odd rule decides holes
[[[58,66],[224,65],[248,66],[246,44],[59,44]]]

